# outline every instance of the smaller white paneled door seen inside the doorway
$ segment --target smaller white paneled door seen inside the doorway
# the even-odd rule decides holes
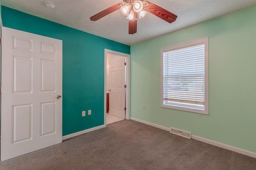
[[[109,114],[125,119],[125,57],[110,60]]]

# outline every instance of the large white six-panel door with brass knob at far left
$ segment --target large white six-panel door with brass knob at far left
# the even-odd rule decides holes
[[[1,91],[1,161],[62,142],[61,40],[2,27]]]

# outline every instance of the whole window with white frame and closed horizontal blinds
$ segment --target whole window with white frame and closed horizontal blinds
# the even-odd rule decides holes
[[[208,113],[208,37],[161,48],[161,107]]]

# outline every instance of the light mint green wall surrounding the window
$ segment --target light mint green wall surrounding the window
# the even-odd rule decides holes
[[[256,6],[131,46],[131,117],[256,152],[255,18]],[[161,108],[160,48],[203,37],[209,115]]]

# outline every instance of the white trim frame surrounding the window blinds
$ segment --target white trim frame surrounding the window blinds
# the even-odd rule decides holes
[[[168,50],[176,50],[176,49],[181,49],[181,48],[186,48],[186,47],[190,47],[191,45],[196,45],[198,43],[204,43],[205,47],[205,55],[204,55],[204,74],[205,74],[205,105],[204,105],[204,110],[200,110],[200,109],[193,109],[190,107],[178,107],[178,106],[170,106],[170,105],[166,105],[164,104],[164,98],[163,98],[163,53],[168,51]],[[161,48],[161,66],[160,66],[160,73],[161,73],[161,107],[164,108],[169,108],[169,109],[176,109],[176,110],[182,110],[182,111],[189,111],[189,112],[194,112],[194,113],[201,113],[201,114],[206,114],[209,115],[209,86],[208,86],[208,76],[209,76],[209,72],[208,72],[208,37],[204,37],[201,39],[196,39],[193,41],[188,41],[185,43],[180,43],[177,45],[171,45],[168,47],[164,47]]]

